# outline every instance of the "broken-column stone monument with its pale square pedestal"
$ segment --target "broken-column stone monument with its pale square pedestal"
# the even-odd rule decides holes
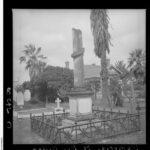
[[[82,32],[79,29],[72,29],[73,33],[73,54],[74,61],[74,88],[68,93],[70,118],[82,119],[92,115],[92,91],[84,87],[84,48],[82,44]]]

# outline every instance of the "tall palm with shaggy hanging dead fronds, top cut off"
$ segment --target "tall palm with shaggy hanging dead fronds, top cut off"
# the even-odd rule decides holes
[[[106,9],[92,9],[90,14],[91,29],[94,37],[94,52],[101,59],[102,101],[109,104],[108,71],[106,51],[109,53],[110,34],[109,18]]]

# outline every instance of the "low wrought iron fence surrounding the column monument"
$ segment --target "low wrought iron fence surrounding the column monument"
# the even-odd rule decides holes
[[[93,139],[102,140],[140,130],[140,113],[130,114],[113,110],[93,110],[93,118],[84,123],[75,122],[62,126],[62,120],[69,113],[33,116],[31,131],[45,138],[51,144],[79,144]]]

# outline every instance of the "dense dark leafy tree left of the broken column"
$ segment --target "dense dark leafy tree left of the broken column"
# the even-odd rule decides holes
[[[36,78],[34,86],[40,100],[54,102],[59,97],[66,97],[66,92],[73,87],[73,71],[54,66],[47,66],[44,71]]]

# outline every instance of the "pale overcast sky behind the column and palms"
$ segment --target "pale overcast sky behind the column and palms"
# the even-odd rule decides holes
[[[145,10],[109,9],[109,32],[112,37],[111,64],[118,60],[127,62],[129,52],[141,48],[145,50]],[[25,45],[42,47],[41,54],[46,63],[65,67],[70,62],[73,69],[72,28],[82,31],[84,64],[100,64],[94,54],[93,36],[90,25],[90,9],[13,9],[13,71],[14,80],[29,80],[25,64],[19,63]]]

